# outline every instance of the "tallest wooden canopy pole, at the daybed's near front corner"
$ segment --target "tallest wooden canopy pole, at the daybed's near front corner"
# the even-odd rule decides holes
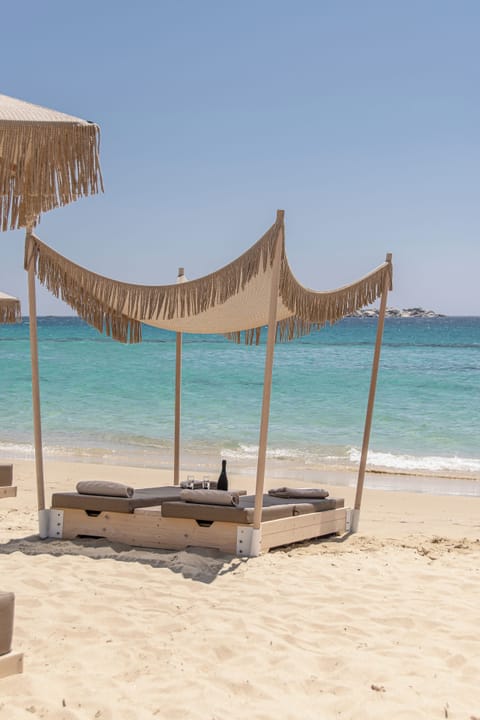
[[[277,334],[277,303],[278,288],[280,285],[280,270],[282,266],[282,250],[283,250],[283,210],[277,212],[277,221],[280,222],[277,239],[275,242],[274,260],[272,266],[272,284],[270,286],[270,302],[268,311],[268,334],[267,348],[265,352],[265,370],[263,381],[263,399],[262,399],[262,416],[260,421],[260,437],[258,443],[258,459],[257,459],[257,479],[255,486],[255,509],[253,514],[253,529],[259,534],[262,505],[263,505],[263,489],[265,483],[265,461],[267,455],[267,435],[268,421],[270,415],[270,398],[272,392],[272,371],[273,371],[273,354],[275,349],[275,339]],[[258,548],[258,551],[260,548]]]

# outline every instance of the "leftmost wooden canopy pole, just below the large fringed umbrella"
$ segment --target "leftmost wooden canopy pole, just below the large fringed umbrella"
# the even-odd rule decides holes
[[[32,234],[28,227],[26,242]],[[40,380],[38,372],[37,300],[35,295],[35,268],[33,254],[28,258],[28,308],[30,316],[30,356],[32,363],[33,432],[35,445],[35,471],[37,477],[37,504],[40,537],[48,537],[48,510],[45,510],[45,481],[43,475],[42,423],[40,417]]]

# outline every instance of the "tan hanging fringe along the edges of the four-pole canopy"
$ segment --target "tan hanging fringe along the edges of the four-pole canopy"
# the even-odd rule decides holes
[[[32,259],[39,281],[64,300],[87,323],[120,342],[141,341],[142,321],[174,320],[199,315],[225,303],[273,264],[283,214],[260,240],[220,270],[185,283],[144,286],[121,283],[76,265],[27,233],[25,268]],[[298,283],[290,270],[282,237],[279,299],[292,313],[277,323],[276,340],[285,342],[351,315],[392,287],[390,259],[360,280],[336,290],[315,292]],[[234,342],[258,344],[262,327],[226,333]]]

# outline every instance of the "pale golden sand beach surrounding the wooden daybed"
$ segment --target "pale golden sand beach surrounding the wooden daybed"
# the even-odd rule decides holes
[[[480,498],[366,489],[357,534],[239,559],[40,541],[33,462],[14,476],[0,575],[24,672],[0,680],[2,720],[480,717]],[[45,476],[47,498],[170,482],[73,462]],[[353,486],[324,486],[352,505]]]

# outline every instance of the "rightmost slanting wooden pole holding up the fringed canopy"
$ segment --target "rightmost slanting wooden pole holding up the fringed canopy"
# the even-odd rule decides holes
[[[386,262],[390,264],[391,261],[392,261],[392,255],[391,255],[391,253],[387,253]],[[364,427],[364,431],[363,431],[362,454],[360,457],[360,465],[358,468],[357,488],[356,488],[356,492],[355,492],[355,504],[354,504],[354,509],[353,509],[352,523],[351,523],[351,532],[352,533],[357,532],[358,523],[360,520],[360,506],[362,504],[363,484],[364,484],[364,480],[365,480],[365,470],[367,467],[368,445],[370,442],[370,430],[372,428],[373,406],[375,403],[375,392],[377,389],[378,367],[380,364],[380,352],[381,352],[381,348],[382,348],[383,328],[385,325],[385,313],[386,313],[386,309],[387,309],[387,297],[388,297],[389,287],[390,287],[390,277],[389,277],[389,275],[385,275],[385,281],[384,281],[383,291],[382,291],[382,298],[380,301],[380,310],[378,313],[377,337],[375,340],[375,350],[374,350],[373,362],[372,362],[372,374],[371,374],[371,379],[370,379],[370,390],[368,393],[367,413],[365,416],[365,427]]]

